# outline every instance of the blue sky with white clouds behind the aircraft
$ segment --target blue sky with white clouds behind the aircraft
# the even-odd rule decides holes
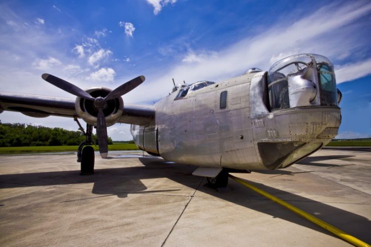
[[[130,103],[166,96],[171,78],[219,81],[291,54],[322,54],[343,92],[338,138],[371,136],[367,0],[3,0],[0,31],[0,90],[71,97],[41,74],[81,88],[115,88],[143,74],[146,81],[124,96]],[[0,119],[77,129],[62,117],[3,112]],[[108,132],[131,139],[126,124]]]

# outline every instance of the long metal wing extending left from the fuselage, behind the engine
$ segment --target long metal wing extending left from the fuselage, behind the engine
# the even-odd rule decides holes
[[[33,117],[80,117],[75,109],[75,99],[44,95],[0,92],[0,113],[4,110],[19,111]],[[147,125],[155,117],[154,106],[124,104],[117,122]]]

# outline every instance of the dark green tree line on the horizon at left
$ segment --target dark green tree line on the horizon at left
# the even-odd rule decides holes
[[[95,134],[92,138],[98,144]],[[81,131],[0,122],[0,146],[79,145],[84,140],[85,135]],[[108,143],[112,144],[111,137],[108,137]]]

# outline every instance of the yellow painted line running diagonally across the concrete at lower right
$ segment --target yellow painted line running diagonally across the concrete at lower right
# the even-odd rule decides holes
[[[299,214],[300,216],[312,221],[313,223],[321,226],[322,228],[325,228],[326,230],[328,230],[328,231],[332,232],[333,234],[337,235],[338,237],[341,237],[342,239],[350,242],[351,244],[353,244],[355,246],[371,247],[371,245],[369,245],[368,243],[363,242],[362,240],[359,240],[358,238],[356,238],[352,235],[349,235],[348,233],[336,228],[335,226],[330,225],[329,223],[327,223],[327,222],[325,222],[325,221],[323,221],[323,220],[321,220],[321,219],[319,219],[319,218],[317,218],[317,217],[315,217],[315,216],[313,216],[313,215],[311,215],[311,214],[309,214],[309,213],[307,213],[307,212],[305,212],[305,211],[287,203],[284,200],[279,199],[278,197],[276,197],[274,195],[271,195],[270,193],[265,192],[264,190],[261,190],[260,188],[255,187],[254,185],[252,185],[250,183],[247,183],[244,180],[242,180],[238,177],[235,177],[231,174],[229,174],[229,176],[231,178],[233,178],[234,180],[236,180],[237,182],[239,182],[239,183],[245,185],[246,187],[254,190],[255,192],[273,200],[274,202],[277,202],[278,204],[281,204],[282,206],[284,206],[284,207],[290,209],[291,211]]]

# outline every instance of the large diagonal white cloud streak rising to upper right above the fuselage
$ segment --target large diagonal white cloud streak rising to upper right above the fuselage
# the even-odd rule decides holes
[[[329,12],[328,9],[332,10]],[[171,87],[171,78],[189,82],[228,78],[241,74],[249,67],[268,69],[277,59],[293,53],[311,52],[323,54],[330,59],[336,58],[338,54],[353,48],[349,44],[357,45],[354,40],[357,29],[342,33],[338,31],[339,28],[346,27],[370,11],[371,3],[349,2],[341,6],[331,4],[293,22],[276,23],[256,36],[246,37],[213,53],[199,55],[187,52],[167,72],[146,76],[151,82],[146,84],[141,99],[148,101],[166,95]],[[337,40],[341,40],[343,45]],[[368,61],[361,64],[365,67]],[[369,68],[360,69],[362,72],[358,73],[358,77],[364,76],[364,71],[369,71]],[[339,81],[344,81],[341,73],[340,70]],[[356,73],[352,74],[356,76]],[[138,100],[137,97],[131,99]]]

